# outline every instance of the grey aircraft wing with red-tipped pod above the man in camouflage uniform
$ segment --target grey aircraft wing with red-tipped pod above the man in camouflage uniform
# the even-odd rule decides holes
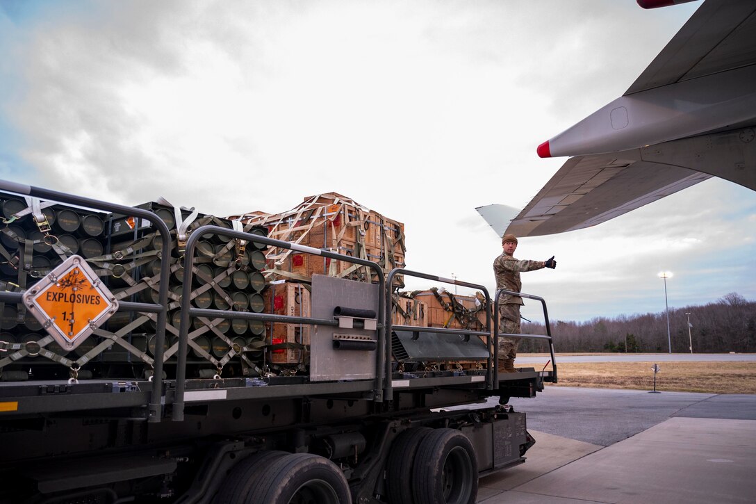
[[[575,157],[494,230],[595,226],[711,176],[756,190],[754,33],[756,2],[705,0],[624,95],[538,146]]]

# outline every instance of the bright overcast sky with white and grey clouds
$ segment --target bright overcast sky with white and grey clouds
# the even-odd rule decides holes
[[[218,216],[335,191],[404,222],[407,268],[493,291],[475,208],[524,207],[566,160],[536,147],[699,3],[0,0],[0,177]],[[671,307],[756,298],[754,230],[756,192],[710,179],[515,256],[556,256],[522,275],[552,320],[661,313],[662,270]]]

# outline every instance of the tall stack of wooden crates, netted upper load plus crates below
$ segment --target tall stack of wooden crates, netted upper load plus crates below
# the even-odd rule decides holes
[[[253,211],[231,218],[240,219],[246,226],[263,226],[270,238],[373,261],[382,267],[384,275],[404,267],[404,225],[335,192],[309,196],[283,213]],[[265,297],[269,313],[310,316],[312,275],[377,280],[365,266],[283,247],[270,247],[266,258],[265,278],[272,284]],[[395,278],[395,286],[404,286],[401,275]],[[308,325],[274,323],[266,330],[271,365],[308,364]]]

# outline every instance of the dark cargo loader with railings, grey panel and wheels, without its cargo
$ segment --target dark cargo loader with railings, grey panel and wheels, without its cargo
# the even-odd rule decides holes
[[[136,215],[170,237],[146,210],[2,181],[0,190]],[[391,323],[386,285],[394,275],[477,288],[491,306],[485,287],[406,269],[384,278],[368,260],[218,226],[188,235],[184,265],[194,263],[206,235],[351,261],[380,273],[379,281],[314,275],[312,316],[295,317],[192,306],[184,301],[191,299],[194,268],[184,268],[172,345],[166,344],[167,278],[156,303],[119,303],[118,310],[155,314],[154,359],[150,369],[137,366],[131,375],[119,368],[110,376],[116,372],[96,359],[51,357],[53,338],[43,333],[0,342],[0,370],[2,362],[13,368],[0,375],[0,502],[474,502],[477,476],[525,461],[534,442],[525,414],[503,405],[556,381],[556,366],[499,374],[490,309],[483,331]],[[163,243],[163,257],[170,257],[170,239]],[[163,267],[161,278],[167,274]],[[0,303],[24,303],[28,288],[33,284],[0,292]],[[547,317],[541,298],[524,295],[541,300]],[[228,369],[219,367],[215,375],[187,376],[191,318],[232,316],[308,325],[308,366],[248,375],[225,375]],[[550,334],[524,337],[543,338],[553,355]],[[117,333],[89,338],[123,344]],[[232,350],[231,357],[243,358],[253,349]],[[448,365],[457,355],[476,365]],[[68,379],[49,371],[66,371],[61,362]],[[20,370],[26,363],[29,372]],[[500,406],[482,407],[492,396]]]

